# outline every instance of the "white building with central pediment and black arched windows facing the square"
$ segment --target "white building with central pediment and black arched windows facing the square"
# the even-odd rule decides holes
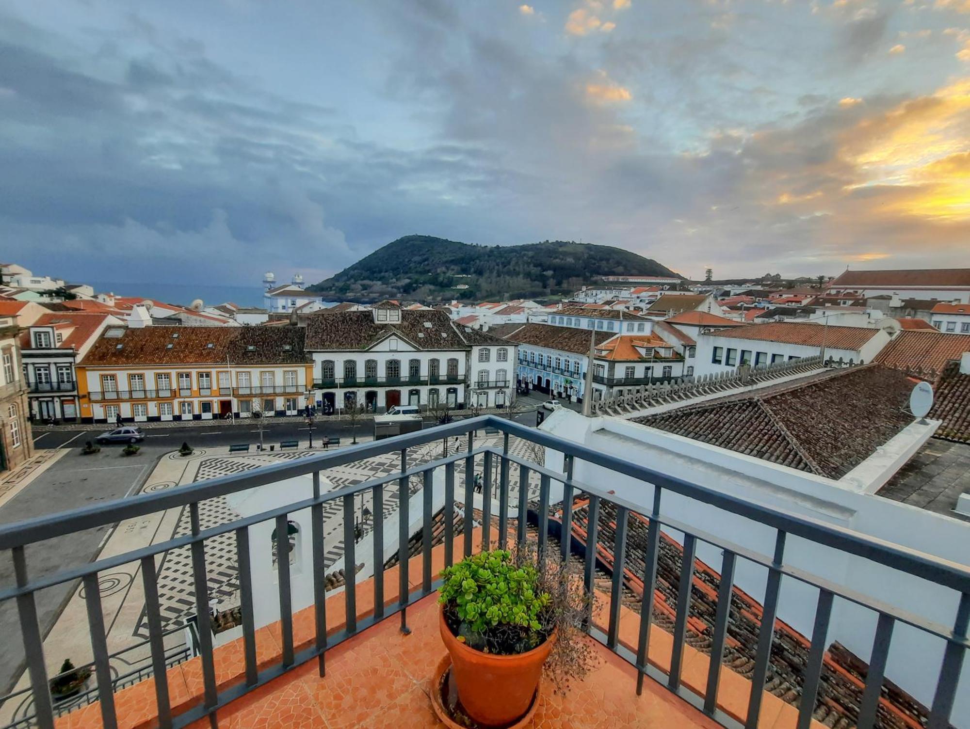
[[[307,319],[317,406],[371,412],[400,404],[434,408],[474,402],[501,407],[515,397],[515,344],[461,327],[436,309],[391,301],[365,311],[321,311]]]

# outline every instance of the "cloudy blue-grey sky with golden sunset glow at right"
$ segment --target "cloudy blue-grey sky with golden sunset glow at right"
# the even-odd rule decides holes
[[[413,233],[970,266],[970,0],[0,8],[0,257],[315,281]]]

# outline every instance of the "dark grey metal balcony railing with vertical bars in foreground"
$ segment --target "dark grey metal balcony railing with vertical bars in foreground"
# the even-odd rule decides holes
[[[474,430],[495,428],[503,434],[501,447],[485,446],[472,448],[470,433]],[[469,434],[467,451],[462,451],[445,458],[421,462],[410,468],[406,466],[409,449],[442,439],[453,438]],[[531,460],[515,455],[509,449],[509,436],[516,436],[531,441],[547,452],[558,452],[563,455],[564,469],[557,471],[546,468]],[[336,491],[321,492],[318,474],[329,468],[346,463],[369,459],[384,454],[400,454],[401,469],[399,472],[374,478],[352,486],[345,486]],[[456,483],[456,463],[465,461],[464,488]],[[476,461],[480,463],[476,465]],[[608,491],[609,484],[592,485],[582,483],[573,478],[574,465],[583,461],[604,468],[614,474],[635,479],[643,484],[644,502],[652,506],[643,506],[631,502]],[[512,467],[518,465],[518,484],[513,484]],[[764,597],[761,605],[760,629],[757,638],[757,653],[751,669],[751,693],[748,700],[747,727],[757,727],[760,719],[760,707],[768,676],[769,661],[772,655],[772,640],[775,633],[775,620],[778,615],[779,595],[782,578],[786,585],[790,581],[813,586],[818,590],[818,601],[815,612],[814,630],[811,645],[807,654],[807,661],[803,668],[800,699],[798,700],[798,726],[808,727],[816,705],[816,697],[820,685],[826,648],[826,634],[829,618],[833,607],[833,600],[851,603],[854,609],[862,608],[878,617],[872,655],[864,679],[864,690],[857,706],[857,726],[869,729],[876,720],[877,708],[884,681],[887,657],[892,641],[893,627],[899,623],[906,627],[907,645],[912,646],[915,628],[923,634],[938,640],[942,647],[942,661],[939,665],[935,683],[934,696],[929,709],[927,726],[930,729],[944,729],[948,726],[950,716],[957,695],[957,683],[963,659],[970,639],[967,637],[968,622],[970,622],[970,569],[954,562],[940,559],[931,555],[916,552],[899,545],[875,539],[852,529],[838,525],[823,523],[812,519],[792,515],[788,512],[772,509],[754,501],[747,501],[724,491],[697,486],[687,481],[674,478],[654,470],[640,463],[624,460],[616,456],[602,453],[572,441],[559,438],[549,433],[527,428],[517,423],[496,417],[482,416],[466,421],[451,423],[437,428],[428,428],[415,433],[409,433],[385,440],[363,443],[340,449],[336,452],[321,453],[297,460],[286,460],[280,463],[257,468],[239,474],[214,478],[178,489],[142,493],[129,498],[118,499],[95,506],[84,507],[70,512],[54,514],[48,517],[32,519],[21,523],[9,523],[0,526],[0,550],[11,550],[16,574],[16,585],[5,586],[0,589],[0,600],[16,600],[19,629],[26,655],[27,669],[30,678],[30,691],[33,697],[33,717],[21,717],[20,720],[31,719],[42,729],[51,729],[54,725],[54,709],[49,692],[49,676],[44,659],[43,637],[38,623],[36,593],[39,590],[73,583],[81,580],[85,590],[85,602],[89,618],[89,639],[94,656],[93,667],[97,677],[98,699],[100,711],[105,726],[115,726],[115,711],[113,703],[113,676],[110,665],[111,655],[108,652],[105,637],[105,626],[102,614],[101,592],[98,586],[98,575],[106,570],[113,570],[132,561],[141,563],[141,579],[145,588],[146,621],[149,639],[146,642],[150,649],[154,677],[154,691],[158,707],[158,724],[161,727],[183,727],[204,716],[212,717],[215,710],[226,705],[249,691],[273,681],[276,677],[287,672],[295,665],[310,660],[317,660],[320,675],[324,674],[324,662],[328,650],[333,649],[351,636],[370,625],[390,618],[392,615],[406,611],[408,605],[423,599],[436,589],[439,581],[433,573],[432,529],[422,531],[422,562],[421,584],[415,589],[409,588],[408,558],[410,556],[408,539],[408,500],[412,492],[422,493],[423,524],[432,523],[434,500],[432,478],[436,469],[444,470],[444,562],[450,565],[456,558],[454,552],[454,517],[456,509],[471,514],[475,505],[474,484],[472,474],[480,467],[483,475],[482,487],[485,494],[492,498],[481,501],[481,542],[472,544],[473,525],[471,519],[464,520],[462,542],[465,555],[475,549],[485,549],[492,543],[492,510],[493,499],[498,503],[498,541],[504,546],[509,537],[524,541],[527,535],[527,520],[515,519],[515,530],[511,532],[509,508],[512,504],[511,494],[517,486],[518,514],[528,515],[528,521],[537,524],[539,554],[550,549],[550,499],[553,482],[562,484],[562,514],[559,519],[561,534],[571,535],[571,539],[561,539],[559,548],[563,554],[569,550],[583,555],[583,579],[588,590],[596,589],[597,571],[601,561],[598,559],[598,547],[607,545],[612,552],[611,582],[609,593],[605,596],[606,611],[601,630],[593,622],[588,626],[588,632],[606,649],[612,650],[621,658],[627,660],[637,671],[637,690],[642,688],[645,678],[661,681],[674,694],[695,706],[698,710],[713,717],[728,727],[739,726],[738,722],[727,716],[717,707],[717,691],[722,668],[722,659],[727,642],[727,625],[730,618],[730,595],[732,594],[733,575],[743,563],[746,566],[757,565],[767,573],[764,586]],[[493,478],[493,471],[496,476]],[[530,473],[539,477],[538,508],[530,508],[528,489]],[[313,475],[314,490],[311,497],[288,503],[272,510],[221,523],[217,526],[202,530],[199,526],[200,504],[208,499],[225,496],[230,493],[245,491],[255,487],[266,486],[284,481],[296,476]],[[419,485],[417,491],[411,488],[411,479],[416,479]],[[357,616],[357,592],[359,587],[354,580],[350,580],[343,591],[346,621],[343,629],[332,635],[326,631],[326,591],[324,583],[324,532],[325,507],[339,504],[342,509],[342,534],[344,544],[344,564],[356,564],[356,542],[354,533],[354,515],[356,513],[355,496],[369,494],[372,498],[372,513],[384,515],[384,499],[390,489],[398,491],[396,535],[399,544],[399,578],[400,598],[392,605],[385,606],[384,600],[384,518],[374,521],[372,526],[374,561],[374,579],[372,580],[373,612],[367,617]],[[726,518],[740,517],[761,526],[769,527],[774,533],[774,549],[772,555],[763,555],[747,547],[739,546],[718,536],[706,533],[692,526],[666,516],[662,512],[664,494],[679,494],[714,507],[724,512]],[[582,496],[588,502],[586,513],[585,539],[579,540],[573,530],[574,497]],[[150,544],[135,551],[112,555],[98,559],[90,564],[65,569],[54,574],[32,577],[28,564],[27,545],[55,537],[66,536],[91,529],[117,523],[122,520],[144,517],[149,514],[168,509],[187,507],[191,516],[192,530],[188,534],[174,536],[166,541]],[[281,637],[281,662],[271,667],[257,670],[257,653],[255,639],[255,625],[253,623],[253,589],[272,589],[272,585],[253,585],[249,570],[249,527],[263,522],[273,521],[276,532],[287,533],[287,516],[304,509],[310,510],[311,515],[311,554],[313,560],[312,576],[296,579],[311,579],[313,582],[315,608],[315,641],[305,650],[294,649],[294,627],[291,606],[291,575],[289,560],[280,559],[276,562],[280,620],[278,625]],[[326,509],[328,513],[332,509]],[[606,519],[600,518],[600,512],[612,515]],[[638,515],[647,524],[645,544],[637,547],[636,563],[644,565],[642,574],[643,594],[652,596],[658,587],[658,555],[660,552],[661,532],[680,535],[683,544],[681,563],[681,577],[678,578],[678,597],[676,602],[675,619],[672,631],[672,649],[670,653],[669,673],[647,661],[647,646],[649,645],[650,630],[652,629],[653,611],[643,609],[636,617],[638,622],[638,641],[636,646],[627,647],[619,641],[620,619],[623,610],[623,589],[625,574],[629,572],[630,561],[628,551],[628,529],[630,516]],[[210,598],[207,588],[207,568],[205,543],[221,534],[235,534],[238,563],[242,566],[239,573],[240,596],[242,605],[242,646],[245,664],[245,681],[219,691],[216,682],[215,666],[212,653],[212,630],[210,621]],[[931,621],[911,612],[898,609],[887,603],[874,600],[857,591],[855,586],[843,586],[830,580],[818,577],[786,560],[786,548],[795,541],[810,542],[815,549],[832,549],[842,555],[863,558],[876,565],[882,565],[897,572],[900,576],[911,575],[921,578],[927,585],[935,588],[953,590],[958,596],[956,617],[954,624],[943,625]],[[703,695],[696,695],[681,683],[681,667],[684,658],[684,646],[689,626],[689,611],[691,605],[691,579],[695,570],[695,555],[699,545],[711,545],[721,551],[720,586],[717,600],[716,616],[714,618],[711,635],[710,661],[706,675],[706,691]],[[204,699],[201,705],[193,706],[178,715],[173,716],[170,703],[169,685],[166,676],[168,654],[163,645],[164,632],[160,617],[160,602],[156,573],[155,555],[169,550],[187,548],[192,556],[192,575],[195,588],[195,608],[198,625],[198,638],[201,648],[202,675],[204,681]],[[639,550],[642,549],[642,552]],[[637,570],[639,572],[639,569]],[[686,579],[684,577],[686,576]],[[369,588],[370,589],[370,588]],[[368,600],[370,603],[371,601]],[[954,600],[954,602],[957,602]],[[656,629],[656,627],[655,627]],[[903,631],[900,631],[903,632]],[[935,670],[927,664],[927,670]],[[0,697],[2,703],[4,697]]]

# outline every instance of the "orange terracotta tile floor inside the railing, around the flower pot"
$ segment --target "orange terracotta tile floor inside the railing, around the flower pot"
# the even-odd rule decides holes
[[[229,729],[367,727],[418,729],[440,726],[428,698],[432,672],[444,654],[431,596],[407,613],[411,634],[398,618],[384,620],[327,653],[327,676],[311,661],[233,702],[218,713]],[[718,726],[711,719],[646,681],[637,696],[636,672],[611,652],[598,648],[598,666],[585,681],[559,697],[545,691],[533,726],[542,729],[622,729],[623,727]],[[193,729],[209,726],[207,720]]]

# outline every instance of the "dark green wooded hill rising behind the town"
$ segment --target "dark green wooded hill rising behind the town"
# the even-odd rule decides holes
[[[309,290],[329,301],[541,299],[576,291],[598,276],[636,274],[676,275],[608,245],[563,240],[472,245],[405,236]]]

